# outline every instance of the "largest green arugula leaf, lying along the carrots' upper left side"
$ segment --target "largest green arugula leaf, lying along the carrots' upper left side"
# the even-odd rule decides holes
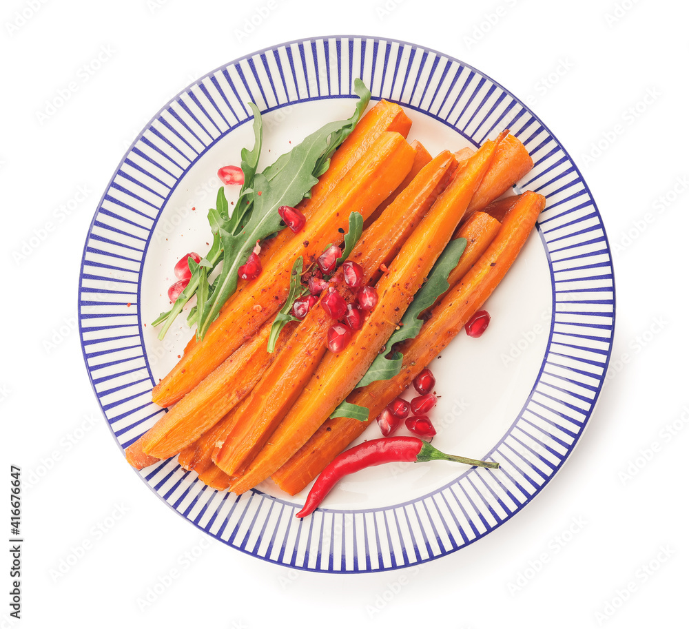
[[[201,306],[196,338],[203,338],[227,298],[236,291],[237,271],[246,262],[256,242],[282,229],[278,207],[294,206],[305,198],[311,187],[318,182],[318,175],[327,169],[335,149],[358,122],[371,94],[360,81],[356,83],[356,87],[361,93],[354,114],[345,121],[327,123],[291,149],[289,158],[278,158],[278,166],[267,169],[267,174],[256,174],[253,189],[251,192],[247,190],[247,198],[251,198],[251,210],[243,212],[243,218],[247,218],[243,221],[243,228],[235,233],[224,226],[220,227],[219,234],[224,249],[223,270],[216,290]],[[258,110],[254,110],[254,116],[256,114]]]

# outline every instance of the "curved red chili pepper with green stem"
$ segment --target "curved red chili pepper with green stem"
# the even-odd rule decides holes
[[[454,461],[466,465],[497,469],[500,464],[457,457],[442,453],[428,442],[417,437],[382,437],[364,441],[336,456],[320,473],[307,496],[304,508],[296,517],[306,517],[313,513],[335,484],[347,474],[382,463],[425,461]]]

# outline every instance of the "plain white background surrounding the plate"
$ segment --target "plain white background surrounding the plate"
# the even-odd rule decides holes
[[[41,477],[23,493],[18,622],[0,553],[0,627],[635,628],[685,615],[688,13],[669,0],[4,2],[0,484],[10,464]],[[371,575],[280,568],[171,513],[114,444],[76,330],[90,220],[150,117],[218,65],[324,34],[435,48],[531,105],[582,169],[617,282],[614,377],[555,480],[479,542]]]

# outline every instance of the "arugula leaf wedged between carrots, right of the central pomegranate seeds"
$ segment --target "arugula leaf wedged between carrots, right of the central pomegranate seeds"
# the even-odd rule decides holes
[[[424,323],[423,320],[419,318],[420,314],[431,307],[435,303],[435,300],[449,289],[450,285],[447,282],[447,277],[452,269],[457,266],[457,262],[459,262],[465,247],[466,238],[455,238],[455,240],[451,240],[449,245],[445,247],[438,260],[435,261],[435,265],[433,265],[428,279],[417,291],[409,308],[407,308],[407,311],[404,313],[400,321],[399,329],[392,333],[383,351],[373,359],[371,366],[357,383],[357,389],[360,386],[366,386],[367,384],[371,384],[371,382],[376,382],[376,380],[390,380],[400,373],[404,355],[396,351],[390,355],[390,358],[387,358],[387,356],[392,351],[395,343],[402,342],[409,338],[415,338],[415,336],[418,335]],[[346,409],[342,408],[342,404],[347,405]],[[331,417],[353,417],[353,415],[349,413],[358,413],[359,417],[362,416],[363,411],[357,409],[364,409],[366,411],[366,418],[369,416],[368,409],[364,406],[349,404],[349,402],[342,402],[342,404],[333,411],[333,414],[330,415]],[[359,417],[354,418],[359,419]]]

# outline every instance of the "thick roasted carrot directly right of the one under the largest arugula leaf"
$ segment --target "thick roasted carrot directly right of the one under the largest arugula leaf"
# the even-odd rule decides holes
[[[168,406],[180,400],[222,364],[245,338],[253,336],[287,298],[294,260],[304,256],[305,262],[311,262],[328,243],[341,243],[349,214],[356,210],[364,220],[368,218],[407,176],[413,154],[413,149],[397,132],[380,134],[349,176],[327,197],[320,211],[307,221],[300,238],[289,240],[276,251],[260,276],[235,293],[203,340],[189,348],[156,385],[153,401]]]

